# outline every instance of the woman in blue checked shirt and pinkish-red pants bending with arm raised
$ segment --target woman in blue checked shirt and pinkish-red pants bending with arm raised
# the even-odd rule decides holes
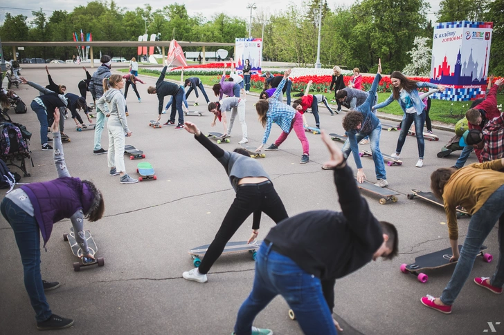
[[[278,150],[278,146],[287,139],[287,136],[289,136],[289,133],[291,133],[291,130],[294,128],[294,131],[296,132],[296,135],[298,135],[298,139],[301,141],[301,145],[303,146],[303,155],[301,156],[300,163],[305,164],[309,161],[309,143],[306,138],[305,129],[303,128],[303,115],[291,106],[278,101],[278,95],[282,94],[282,88],[285,85],[285,82],[287,82],[287,77],[289,77],[290,74],[291,70],[285,71],[284,79],[276,88],[273,96],[267,100],[260,99],[255,104],[255,111],[258,112],[259,121],[265,128],[264,136],[262,137],[262,144],[255,151],[260,151],[264,144],[266,144],[271,131],[271,124],[275,122],[278,126],[280,126],[280,128],[282,128],[282,133],[275,143],[271,143],[271,146],[268,146],[265,150]]]

